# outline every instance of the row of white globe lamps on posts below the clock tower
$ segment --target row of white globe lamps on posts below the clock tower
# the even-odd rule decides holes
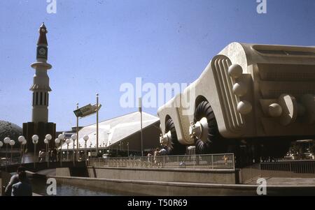
[[[36,167],[36,144],[38,143],[38,135],[33,135],[31,137],[31,140],[34,144],[34,167]],[[52,139],[52,136],[50,134],[48,135],[45,135],[45,140],[44,140],[44,143],[46,144],[46,156],[47,156],[47,151],[49,150],[49,142],[50,140]],[[84,135],[83,136],[83,140],[85,141],[85,162],[87,161],[87,140],[89,139],[89,136],[88,135]],[[59,134],[58,137],[55,139],[55,144],[56,144],[56,147],[58,144],[60,144],[60,165],[62,166],[62,142],[66,142],[67,144],[67,147],[66,147],[66,150],[67,150],[67,160],[69,160],[69,144],[71,142],[73,142],[73,153],[72,153],[72,156],[73,156],[73,163],[74,163],[74,149],[75,149],[75,142],[76,140],[76,135],[71,135],[71,138],[69,139],[66,139],[64,140],[64,134]],[[27,140],[25,139],[24,136],[20,136],[18,137],[18,141],[20,142],[21,144],[21,150],[22,150],[22,157],[24,156],[24,147],[25,147],[25,144],[27,144]],[[10,157],[10,162],[12,163],[12,159],[13,159],[13,153],[12,153],[12,150],[13,150],[13,146],[15,145],[15,141],[14,140],[11,140],[10,137],[5,137],[4,140],[3,140],[4,144],[6,144],[6,166],[7,166],[7,160],[8,160],[8,144],[11,146],[11,157]],[[0,141],[0,148],[3,147],[3,142]],[[21,163],[22,163],[22,158],[21,158]],[[49,161],[47,161],[48,163],[48,167],[49,167]]]

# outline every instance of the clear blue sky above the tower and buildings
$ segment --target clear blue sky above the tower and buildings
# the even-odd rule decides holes
[[[75,126],[73,110],[100,95],[101,120],[137,111],[120,107],[120,85],[190,83],[231,42],[315,45],[314,0],[0,1],[0,119],[31,121],[38,27],[48,28],[49,121]],[[156,114],[157,108],[144,108]],[[94,123],[96,117],[80,120]]]

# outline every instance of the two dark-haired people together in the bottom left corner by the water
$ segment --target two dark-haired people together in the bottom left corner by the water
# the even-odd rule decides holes
[[[32,196],[32,188],[25,167],[18,167],[17,174],[13,175],[6,186],[6,196]]]

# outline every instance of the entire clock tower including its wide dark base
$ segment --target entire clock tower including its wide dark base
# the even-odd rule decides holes
[[[47,63],[48,59],[48,43],[46,38],[47,29],[45,24],[41,24],[39,28],[39,38],[37,42],[36,50],[36,62],[31,63],[31,68],[35,69],[35,75],[33,77],[33,85],[29,89],[33,92],[32,96],[32,114],[31,122],[23,123],[23,135],[27,139],[27,149],[34,151],[34,144],[32,143],[31,137],[38,135],[38,146],[37,149],[45,149],[45,135],[52,135],[50,141],[50,148],[54,147],[56,124],[48,122],[48,103],[49,103],[49,77],[47,71],[52,66]],[[36,150],[37,150],[36,149]]]

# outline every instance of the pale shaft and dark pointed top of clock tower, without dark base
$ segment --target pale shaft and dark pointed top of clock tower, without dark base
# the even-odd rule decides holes
[[[33,85],[30,91],[33,91],[33,110],[31,121],[34,123],[48,122],[48,98],[49,92],[49,77],[47,70],[52,66],[47,63],[48,59],[48,43],[46,38],[47,29],[45,24],[41,24],[39,28],[39,38],[37,42],[36,62],[31,63],[31,68],[35,69]]]

